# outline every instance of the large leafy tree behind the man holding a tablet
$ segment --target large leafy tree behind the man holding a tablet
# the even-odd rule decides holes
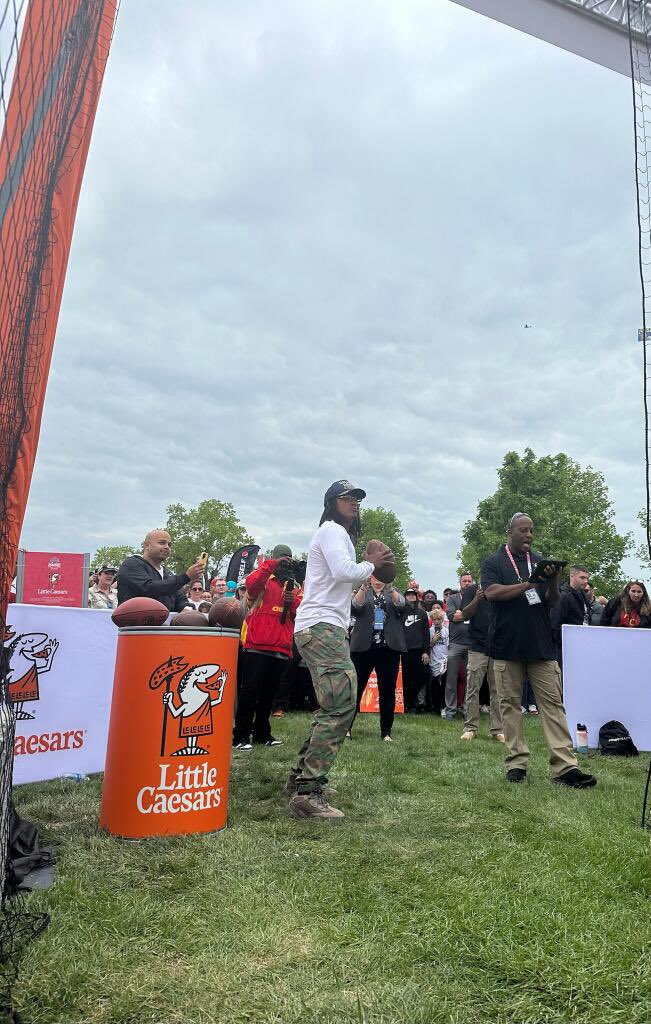
[[[603,474],[581,469],[568,456],[536,459],[508,452],[497,470],[500,484],[484,498],[477,515],[466,523],[459,554],[462,567],[478,574],[482,559],[504,544],[515,512],[526,512],[535,527],[534,547],[550,558],[584,564],[600,593],[614,594],[623,584],[621,559],[632,546],[631,534],[617,534]]]

